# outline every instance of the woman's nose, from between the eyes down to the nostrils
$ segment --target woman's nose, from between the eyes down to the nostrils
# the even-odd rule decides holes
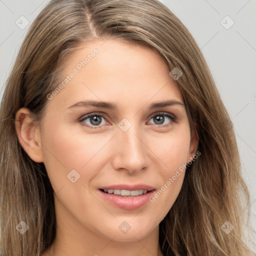
[[[147,153],[149,150],[146,146],[146,139],[135,125],[132,124],[126,131],[118,128],[113,143],[112,165],[114,169],[134,174],[148,167]]]

